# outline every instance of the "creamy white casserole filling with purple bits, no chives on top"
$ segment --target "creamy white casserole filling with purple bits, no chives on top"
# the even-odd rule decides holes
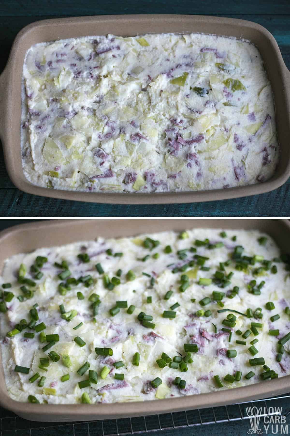
[[[37,44],[23,66],[23,170],[75,191],[198,191],[268,180],[278,160],[257,48],[204,34]]]

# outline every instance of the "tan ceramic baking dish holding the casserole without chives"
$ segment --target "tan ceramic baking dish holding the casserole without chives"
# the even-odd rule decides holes
[[[33,44],[56,39],[108,33],[132,36],[144,33],[201,32],[243,37],[257,45],[272,84],[280,160],[266,182],[211,191],[177,193],[92,193],[61,191],[31,184],[23,174],[20,156],[21,78],[23,59]],[[232,18],[195,15],[111,15],[61,18],[29,24],[17,35],[4,72],[0,76],[0,137],[10,179],[22,191],[47,197],[95,203],[158,204],[223,200],[261,194],[281,186],[290,176],[290,72],[274,37],[259,24]]]

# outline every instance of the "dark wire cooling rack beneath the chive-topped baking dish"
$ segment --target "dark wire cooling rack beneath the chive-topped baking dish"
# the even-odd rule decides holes
[[[0,408],[0,436],[126,436],[218,424],[249,419],[247,406],[262,407],[260,417],[275,415],[275,407],[283,407],[282,414],[290,415],[290,394],[248,403],[187,412],[140,416],[138,418],[112,419],[89,422],[33,422],[20,418],[13,412]],[[273,410],[272,410],[273,407]]]

